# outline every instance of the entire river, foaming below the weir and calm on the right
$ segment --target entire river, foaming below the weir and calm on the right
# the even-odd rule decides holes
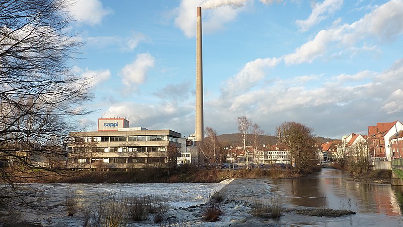
[[[30,187],[46,190],[41,199],[33,202],[43,209],[27,209],[22,217],[42,226],[82,226],[85,207],[99,200],[103,193],[114,192],[124,196],[161,196],[170,207],[167,216],[176,218],[177,224],[169,226],[403,226],[403,187],[353,182],[347,178],[342,171],[322,169],[317,175],[299,179],[235,179],[220,184],[37,184]],[[81,198],[82,208],[74,217],[65,212],[64,196],[68,188],[77,190]],[[220,221],[204,222],[199,208],[181,208],[204,203],[215,191],[232,200],[224,205]],[[281,198],[284,208],[349,209],[356,214],[327,218],[283,212],[277,219],[252,215],[250,202],[270,201],[273,197]],[[160,225],[146,221],[129,226]]]

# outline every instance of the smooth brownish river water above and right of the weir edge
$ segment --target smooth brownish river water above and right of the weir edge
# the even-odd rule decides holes
[[[250,226],[403,226],[403,187],[347,181],[346,178],[348,176],[337,169],[322,169],[318,175],[299,179],[235,180],[222,191],[244,200],[279,196],[284,207],[289,208],[349,209],[356,212],[337,218],[285,212],[275,221],[253,219],[248,223]]]

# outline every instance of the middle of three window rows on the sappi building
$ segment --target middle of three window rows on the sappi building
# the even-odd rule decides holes
[[[74,147],[74,152],[165,152],[167,147]]]

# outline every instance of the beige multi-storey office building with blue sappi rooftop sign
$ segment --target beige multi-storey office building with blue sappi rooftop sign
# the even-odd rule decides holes
[[[181,134],[129,127],[125,118],[100,118],[96,132],[72,132],[68,166],[76,169],[130,171],[169,167],[180,157]]]

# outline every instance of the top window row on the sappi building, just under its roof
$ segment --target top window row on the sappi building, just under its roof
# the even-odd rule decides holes
[[[132,142],[132,141],[172,141],[178,138],[166,135],[155,136],[101,136],[101,137],[75,137],[75,142]]]

